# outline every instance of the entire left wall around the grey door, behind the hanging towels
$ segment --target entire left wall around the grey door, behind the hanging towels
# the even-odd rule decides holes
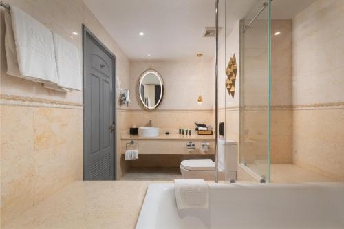
[[[129,87],[129,60],[83,1],[7,2],[74,43],[80,56],[84,23],[116,55],[118,87]],[[2,9],[1,226],[69,182],[83,178],[83,93],[64,94],[6,74]],[[120,131],[128,125],[127,107],[117,108],[120,139]],[[117,148],[120,151],[120,144]],[[120,166],[117,175],[121,175]]]

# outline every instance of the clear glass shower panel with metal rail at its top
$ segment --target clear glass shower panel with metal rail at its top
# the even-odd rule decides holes
[[[259,16],[257,16],[259,15]],[[270,1],[241,20],[239,162],[270,180]]]

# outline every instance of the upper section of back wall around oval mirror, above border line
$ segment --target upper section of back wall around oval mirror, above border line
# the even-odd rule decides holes
[[[152,66],[153,65],[153,66]],[[130,61],[130,109],[141,109],[138,97],[138,80],[145,70],[152,67],[160,73],[164,81],[164,97],[158,109],[198,110],[214,108],[214,83],[212,60],[208,56],[201,59],[201,94],[203,104],[197,104],[199,94],[199,59],[184,61]]]

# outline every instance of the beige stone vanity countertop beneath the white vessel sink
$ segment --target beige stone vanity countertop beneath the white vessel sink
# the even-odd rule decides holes
[[[180,135],[180,134],[160,134],[154,138],[144,138],[138,135],[122,134],[122,140],[215,140],[215,135]]]

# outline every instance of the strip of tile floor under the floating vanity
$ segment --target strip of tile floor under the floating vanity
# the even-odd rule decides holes
[[[120,180],[161,180],[173,181],[181,179],[179,167],[173,168],[129,168],[129,171]]]

